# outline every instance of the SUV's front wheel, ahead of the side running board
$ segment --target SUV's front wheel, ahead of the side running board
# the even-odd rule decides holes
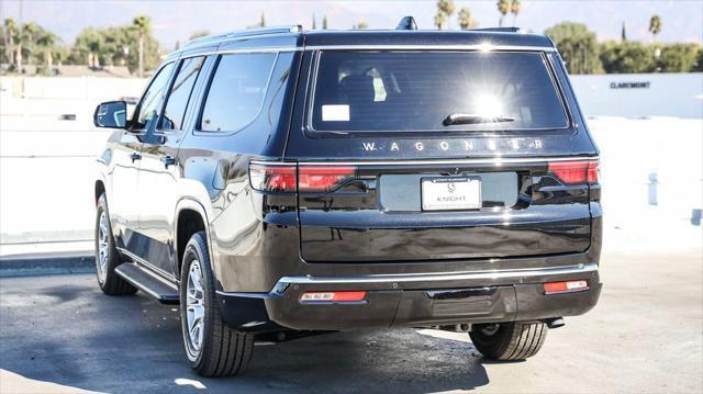
[[[136,293],[136,288],[130,284],[114,272],[120,266],[120,255],[114,247],[112,237],[112,226],[110,225],[110,213],[108,211],[108,200],[103,193],[98,199],[96,214],[96,274],[100,290],[108,295],[130,295]]]

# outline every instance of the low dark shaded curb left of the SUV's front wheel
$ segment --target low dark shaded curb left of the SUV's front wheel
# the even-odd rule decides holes
[[[96,272],[96,257],[89,251],[0,257],[0,278],[88,272]]]

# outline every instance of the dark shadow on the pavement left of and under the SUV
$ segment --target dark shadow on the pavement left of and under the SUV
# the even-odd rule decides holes
[[[107,296],[93,275],[33,279],[0,281],[0,369],[32,380],[101,392],[204,386],[215,392],[405,394],[489,383],[471,344],[417,329],[257,342],[244,375],[203,379],[186,363],[176,307],[140,293]]]

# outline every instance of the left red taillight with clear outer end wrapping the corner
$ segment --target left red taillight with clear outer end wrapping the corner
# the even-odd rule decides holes
[[[258,191],[330,192],[356,176],[356,168],[349,166],[305,166],[294,164],[249,165],[252,188]]]

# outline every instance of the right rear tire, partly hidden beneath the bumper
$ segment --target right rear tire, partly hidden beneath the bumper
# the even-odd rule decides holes
[[[547,339],[544,323],[475,325],[469,333],[476,349],[490,360],[516,361],[537,354]]]

